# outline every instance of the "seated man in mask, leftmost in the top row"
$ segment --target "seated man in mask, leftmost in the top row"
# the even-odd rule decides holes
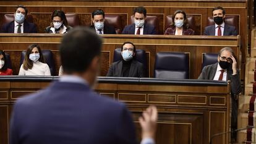
[[[1,33],[37,33],[36,25],[25,19],[27,14],[28,9],[25,6],[17,6],[14,14],[15,20],[4,24]]]

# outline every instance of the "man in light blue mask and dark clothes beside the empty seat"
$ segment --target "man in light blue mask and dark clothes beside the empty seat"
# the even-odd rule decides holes
[[[108,70],[107,77],[144,77],[144,67],[134,60],[136,48],[133,43],[125,42],[121,48],[122,60],[114,62]]]

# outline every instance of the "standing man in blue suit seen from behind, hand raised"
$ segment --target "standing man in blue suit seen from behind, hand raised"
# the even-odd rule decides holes
[[[14,104],[11,144],[135,144],[135,129],[124,103],[92,90],[100,70],[100,36],[77,27],[59,47],[64,75],[38,93]],[[150,107],[139,118],[142,143],[151,144],[157,110]]]

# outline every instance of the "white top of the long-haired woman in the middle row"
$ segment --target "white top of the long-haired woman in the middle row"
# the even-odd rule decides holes
[[[51,75],[48,64],[40,61],[33,63],[32,69],[23,69],[23,64],[20,66],[19,75]]]

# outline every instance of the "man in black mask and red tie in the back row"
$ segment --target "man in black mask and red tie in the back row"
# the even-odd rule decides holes
[[[203,35],[213,35],[213,36],[229,36],[229,35],[237,35],[236,27],[228,25],[224,23],[224,19],[226,16],[226,11],[223,7],[215,7],[212,11],[213,20],[215,25],[210,25],[205,27],[205,32]]]

